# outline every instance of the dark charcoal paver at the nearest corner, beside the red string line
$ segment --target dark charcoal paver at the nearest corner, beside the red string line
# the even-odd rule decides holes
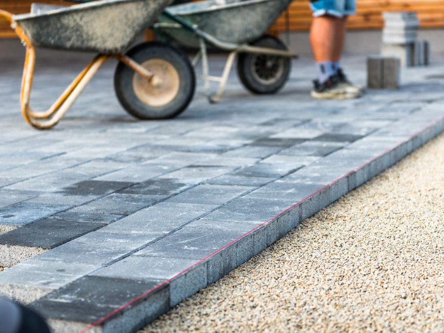
[[[85,276],[33,302],[31,307],[46,318],[93,323],[157,285],[156,281]],[[161,314],[169,307],[169,286],[154,294],[163,300],[156,311]]]

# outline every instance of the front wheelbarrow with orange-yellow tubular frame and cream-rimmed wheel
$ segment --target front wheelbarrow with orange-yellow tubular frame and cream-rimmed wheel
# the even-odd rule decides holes
[[[123,54],[171,2],[99,0],[69,7],[35,4],[31,13],[22,15],[0,10],[0,17],[10,22],[26,46],[20,95],[25,120],[38,129],[55,126],[109,58],[118,60],[114,88],[121,105],[130,114],[141,119],[163,119],[184,111],[194,94],[195,76],[183,51],[162,42],[150,42]],[[36,46],[98,53],[43,112],[30,108]]]

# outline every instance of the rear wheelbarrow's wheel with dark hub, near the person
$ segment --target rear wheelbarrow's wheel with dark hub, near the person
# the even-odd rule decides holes
[[[288,50],[278,38],[264,35],[254,46]],[[237,61],[237,74],[242,84],[254,94],[274,94],[287,83],[292,69],[291,58],[266,54],[242,53]]]

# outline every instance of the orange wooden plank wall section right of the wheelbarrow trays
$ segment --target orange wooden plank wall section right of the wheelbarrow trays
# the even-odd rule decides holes
[[[351,30],[381,29],[383,11],[416,11],[421,27],[444,27],[444,0],[357,0],[357,15],[351,16]],[[307,31],[311,23],[308,0],[295,0],[289,8],[290,29]],[[285,30],[284,15],[276,22],[273,31]]]

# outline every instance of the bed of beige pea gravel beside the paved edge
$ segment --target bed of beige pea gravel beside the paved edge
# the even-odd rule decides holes
[[[443,332],[444,135],[141,332]]]

